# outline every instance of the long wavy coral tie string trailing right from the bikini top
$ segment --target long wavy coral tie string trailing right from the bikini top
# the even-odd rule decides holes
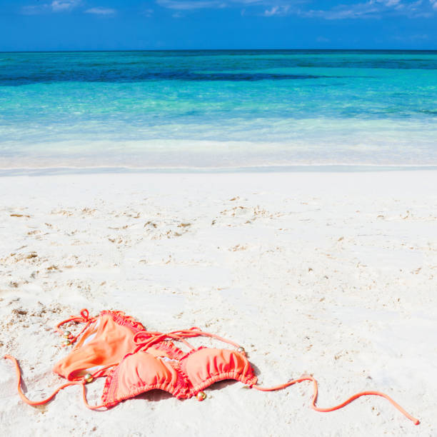
[[[330,411],[336,411],[339,410],[340,408],[343,408],[344,406],[348,405],[348,403],[355,401],[357,398],[360,398],[361,396],[381,396],[382,398],[386,398],[387,401],[389,401],[395,408],[397,408],[398,411],[401,411],[401,413],[404,416],[406,416],[406,418],[410,419],[415,425],[418,425],[420,423],[418,418],[411,416],[411,414],[407,413],[407,411],[405,411],[398,403],[393,401],[393,399],[390,396],[386,395],[386,393],[381,393],[381,391],[361,391],[360,393],[354,394],[350,398],[346,399],[346,401],[339,403],[336,406],[330,408],[320,408],[316,406],[316,401],[318,396],[317,381],[311,375],[302,375],[300,378],[293,379],[292,381],[288,381],[287,383],[274,387],[261,387],[256,384],[253,384],[249,387],[255,388],[256,390],[259,391],[276,391],[276,390],[281,390],[282,388],[292,386],[295,383],[301,383],[303,381],[313,381],[313,396],[311,396],[311,408],[313,408],[313,410],[315,411],[319,411],[321,413],[328,413]]]

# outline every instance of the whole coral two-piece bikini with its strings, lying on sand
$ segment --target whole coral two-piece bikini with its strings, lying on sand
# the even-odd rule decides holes
[[[85,326],[76,336],[73,336],[70,331],[61,330],[61,326],[66,323],[85,323]],[[315,411],[335,411],[361,396],[382,396],[414,424],[419,423],[417,418],[407,413],[388,395],[379,391],[356,393],[337,406],[320,408],[316,406],[317,381],[310,375],[302,375],[279,386],[269,388],[258,386],[257,377],[244,348],[233,341],[206,333],[196,327],[170,333],[146,331],[141,323],[121,311],[101,311],[99,316],[90,318],[89,312],[82,310],[80,316],[59,323],[56,331],[65,338],[63,346],[74,345],[74,347],[54,366],[54,371],[69,382],[57,388],[49,398],[42,401],[30,401],[26,398],[21,390],[19,363],[12,356],[4,357],[15,363],[19,396],[31,406],[51,401],[56,393],[71,385],[82,387],[85,405],[95,410],[111,408],[121,401],[156,388],[168,391],[179,399],[196,396],[199,401],[204,401],[206,398],[204,389],[216,381],[225,379],[241,381],[249,388],[258,391],[276,391],[302,381],[312,381],[311,408]],[[233,346],[233,349],[205,346],[195,348],[186,340],[199,336],[216,338]],[[176,342],[188,346],[189,352],[177,347]],[[101,404],[91,406],[86,400],[86,383],[91,383],[95,378],[100,377],[106,377]]]

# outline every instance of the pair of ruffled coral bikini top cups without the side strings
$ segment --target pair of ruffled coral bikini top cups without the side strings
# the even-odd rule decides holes
[[[166,336],[174,338],[187,334],[212,336],[197,329]],[[153,341],[154,338],[135,353],[129,353],[111,371],[102,396],[104,406],[114,406],[155,388],[168,391],[176,398],[198,396],[199,400],[203,400],[204,393],[201,391],[216,381],[235,379],[248,386],[256,383],[256,376],[242,348],[231,351],[204,346],[193,348],[190,345],[191,351],[185,353],[171,341],[159,341],[150,346]]]

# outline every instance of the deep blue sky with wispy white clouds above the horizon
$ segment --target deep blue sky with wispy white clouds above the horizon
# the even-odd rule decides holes
[[[0,0],[0,51],[437,49],[437,0]]]

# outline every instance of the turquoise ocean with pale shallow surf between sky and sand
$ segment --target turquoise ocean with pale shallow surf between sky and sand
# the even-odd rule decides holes
[[[0,169],[437,166],[437,51],[0,53]]]

